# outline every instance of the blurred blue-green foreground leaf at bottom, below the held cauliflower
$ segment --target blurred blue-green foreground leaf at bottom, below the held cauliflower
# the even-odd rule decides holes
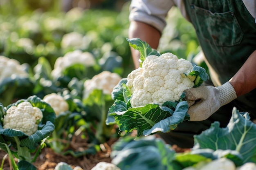
[[[112,146],[113,164],[125,170],[170,170],[175,152],[162,139],[154,136],[132,139],[120,138]]]

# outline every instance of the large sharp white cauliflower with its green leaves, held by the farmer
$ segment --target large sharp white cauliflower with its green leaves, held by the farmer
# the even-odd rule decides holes
[[[206,70],[172,53],[160,55],[139,38],[128,42],[140,52],[140,67],[113,89],[109,115],[115,119],[106,123],[124,132],[137,129],[140,136],[168,132],[189,120],[183,92],[207,80]]]

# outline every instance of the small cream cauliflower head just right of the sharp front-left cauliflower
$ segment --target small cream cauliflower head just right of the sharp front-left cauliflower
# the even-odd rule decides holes
[[[63,113],[69,109],[69,106],[65,99],[56,93],[45,95],[43,101],[48,103],[54,110],[56,115]]]

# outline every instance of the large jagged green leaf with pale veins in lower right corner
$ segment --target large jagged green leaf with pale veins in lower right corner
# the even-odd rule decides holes
[[[249,113],[239,113],[233,108],[226,128],[220,128],[216,121],[211,128],[195,135],[194,149],[236,150],[243,157],[243,163],[256,162],[256,125],[249,119]]]

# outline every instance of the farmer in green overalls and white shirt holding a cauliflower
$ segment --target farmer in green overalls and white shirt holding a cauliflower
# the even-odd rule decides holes
[[[211,81],[185,91],[192,101],[191,121],[160,136],[168,144],[192,148],[193,135],[214,121],[226,127],[233,107],[256,119],[256,0],[132,0],[129,38],[157,49],[173,6],[193,24]],[[132,58],[138,68],[139,51],[132,49]]]

